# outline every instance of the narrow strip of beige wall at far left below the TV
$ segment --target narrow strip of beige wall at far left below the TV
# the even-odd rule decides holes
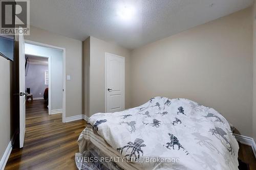
[[[0,56],[0,160],[10,142],[10,61]]]

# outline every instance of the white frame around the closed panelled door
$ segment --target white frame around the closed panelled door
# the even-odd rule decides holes
[[[124,109],[125,109],[125,57],[122,57],[122,56],[118,56],[118,55],[115,55],[115,54],[112,54],[112,53],[107,53],[105,52],[105,112],[107,112],[107,98],[108,98],[108,87],[107,87],[107,84],[106,84],[106,56],[107,55],[113,55],[115,57],[119,57],[119,58],[122,58],[124,60],[124,64],[123,64],[123,69],[124,69],[124,74],[123,74],[123,78],[124,78],[124,82],[123,82],[123,88],[124,88],[124,92],[123,92],[123,99],[124,99],[124,103],[123,103],[123,106],[124,106]]]

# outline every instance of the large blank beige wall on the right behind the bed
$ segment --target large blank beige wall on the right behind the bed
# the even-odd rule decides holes
[[[132,52],[132,107],[154,96],[187,98],[252,135],[252,9]]]

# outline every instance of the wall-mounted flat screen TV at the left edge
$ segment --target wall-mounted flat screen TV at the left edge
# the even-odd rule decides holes
[[[0,56],[13,61],[14,36],[0,35]]]

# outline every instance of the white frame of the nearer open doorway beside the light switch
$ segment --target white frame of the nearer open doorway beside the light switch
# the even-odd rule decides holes
[[[66,123],[66,48],[25,39],[25,43],[62,50],[62,123]]]

